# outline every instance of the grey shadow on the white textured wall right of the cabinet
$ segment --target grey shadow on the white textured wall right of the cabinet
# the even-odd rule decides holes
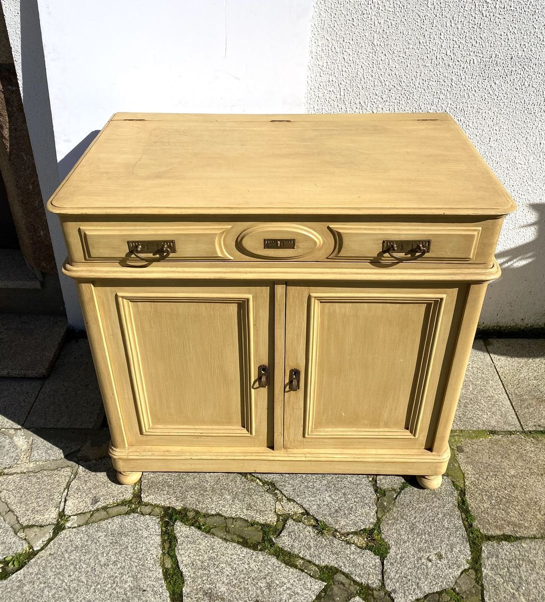
[[[529,290],[535,290],[535,283],[545,280],[545,249],[541,246],[540,235],[543,235],[544,208],[540,203],[529,205],[537,214],[537,219],[523,226],[531,229],[528,242],[496,253],[497,261],[502,268],[502,276],[499,280],[491,282],[488,287],[487,300],[485,302],[486,325],[481,330],[482,335],[494,335],[504,337],[525,338],[545,337],[545,303],[542,297],[532,295],[530,302],[534,305],[534,315],[537,319],[528,324],[525,317],[519,311],[520,301],[528,296]],[[505,226],[504,226],[505,228]],[[540,287],[537,287],[538,290]],[[502,308],[508,307],[511,312],[511,325],[503,326],[494,321],[494,304],[501,300]]]

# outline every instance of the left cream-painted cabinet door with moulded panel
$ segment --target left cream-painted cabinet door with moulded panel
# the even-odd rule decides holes
[[[272,287],[125,283],[94,291],[127,444],[272,445]]]

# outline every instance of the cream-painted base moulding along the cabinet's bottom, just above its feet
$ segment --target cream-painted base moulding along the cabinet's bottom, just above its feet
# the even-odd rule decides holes
[[[332,473],[438,476],[444,473],[450,448],[426,450],[204,450],[110,446],[119,472]]]

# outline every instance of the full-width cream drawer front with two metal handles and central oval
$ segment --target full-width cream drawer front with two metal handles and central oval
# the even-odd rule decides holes
[[[388,262],[397,261],[384,250],[384,241],[397,241],[393,255],[404,259],[410,241],[425,241],[429,252],[414,258],[419,263],[492,261],[501,219],[483,222],[201,222],[172,220],[86,222],[66,220],[63,230],[72,262],[139,264],[129,252],[129,243],[142,242],[139,255],[168,242],[173,247],[163,262],[180,261],[308,261]],[[146,249],[146,243],[149,247]],[[175,247],[175,250],[174,250]],[[161,254],[156,255],[161,258]]]

